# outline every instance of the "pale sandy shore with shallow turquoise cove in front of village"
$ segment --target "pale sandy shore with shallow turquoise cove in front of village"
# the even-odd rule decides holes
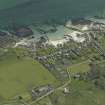
[[[103,19],[97,20],[97,19],[94,19],[91,17],[90,18],[85,17],[85,19],[92,20],[93,22],[97,21],[99,23],[105,22],[105,20],[103,20]],[[40,26],[40,28],[43,31],[46,30],[45,27],[49,28],[49,26],[47,26],[47,25]],[[82,30],[81,32],[78,30],[73,30],[73,29],[67,28],[66,26],[63,26],[63,25],[59,25],[56,27],[57,31],[47,32],[45,34],[38,32],[37,27],[35,27],[35,26],[30,26],[30,28],[34,32],[34,35],[33,35],[34,39],[24,38],[24,39],[20,40],[19,42],[17,42],[14,47],[17,47],[18,45],[27,46],[27,45],[29,45],[30,42],[32,42],[32,40],[34,40],[33,42],[37,42],[41,36],[47,36],[49,39],[49,41],[47,43],[52,44],[54,46],[57,46],[58,44],[63,45],[64,43],[66,43],[70,39],[77,42],[77,43],[82,43],[86,40],[85,34],[82,31],[88,30],[88,25],[84,25],[84,26],[82,26],[82,28],[80,26],[80,28]]]

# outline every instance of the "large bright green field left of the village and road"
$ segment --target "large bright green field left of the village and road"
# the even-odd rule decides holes
[[[0,98],[26,94],[32,87],[58,81],[37,61],[15,57],[0,60]]]

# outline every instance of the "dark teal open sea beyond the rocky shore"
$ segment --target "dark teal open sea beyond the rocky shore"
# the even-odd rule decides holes
[[[7,4],[7,0],[3,5]],[[10,1],[10,0],[8,0]],[[11,0],[11,2],[16,0]],[[44,22],[63,23],[68,19],[105,14],[105,0],[17,0],[17,5],[0,9],[0,28]],[[21,2],[22,3],[21,3]],[[23,2],[24,1],[24,2]],[[10,3],[11,3],[10,2]],[[8,2],[9,3],[9,2]],[[14,2],[15,4],[15,2]],[[0,3],[2,5],[2,2]],[[52,36],[64,34],[62,27]],[[38,34],[37,34],[38,35]]]

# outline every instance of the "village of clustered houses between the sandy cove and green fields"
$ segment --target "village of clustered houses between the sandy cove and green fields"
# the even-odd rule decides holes
[[[32,43],[30,46],[26,45],[35,49],[36,53],[32,57],[61,81],[68,78],[66,71],[68,66],[88,59],[93,60],[96,55],[102,59],[105,56],[102,43],[99,42],[100,38],[105,37],[103,23],[78,19],[73,23],[67,22],[65,27],[72,29],[73,32],[65,34],[61,40],[51,41],[48,37],[42,36],[36,44],[32,41],[34,45]],[[90,53],[93,56],[90,56]]]

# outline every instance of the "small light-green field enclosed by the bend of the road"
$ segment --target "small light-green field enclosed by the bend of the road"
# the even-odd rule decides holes
[[[89,63],[84,62],[80,64],[76,64],[67,68],[70,73],[80,73],[86,72],[89,70]]]

